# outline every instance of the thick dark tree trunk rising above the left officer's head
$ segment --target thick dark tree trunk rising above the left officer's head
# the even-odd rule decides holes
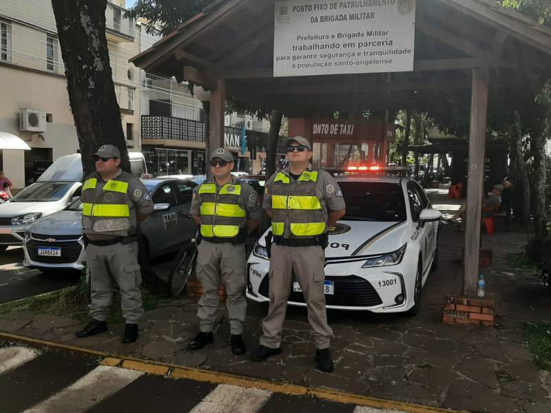
[[[118,147],[122,169],[130,170],[105,38],[106,7],[107,0],[52,0],[85,176],[95,171],[92,153],[107,143]]]

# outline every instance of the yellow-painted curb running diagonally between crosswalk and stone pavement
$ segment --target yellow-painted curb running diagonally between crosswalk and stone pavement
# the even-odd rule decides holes
[[[291,396],[313,396],[318,399],[333,401],[335,403],[355,404],[378,409],[393,409],[402,410],[412,413],[465,413],[465,410],[451,410],[440,407],[432,407],[420,405],[417,403],[406,403],[402,401],[393,401],[386,399],[378,399],[376,397],[363,396],[361,394],[353,394],[339,392],[337,390],[327,390],[323,388],[309,388],[303,385],[293,385],[285,383],[277,383],[262,379],[251,379],[249,377],[238,376],[236,374],[227,374],[222,372],[214,372],[210,370],[202,370],[199,368],[189,368],[178,366],[176,364],[162,363],[158,361],[149,361],[137,359],[134,357],[126,357],[118,354],[110,354],[98,350],[90,350],[76,346],[67,346],[65,344],[54,343],[52,341],[44,341],[41,339],[32,339],[19,335],[12,335],[6,332],[0,332],[0,339],[9,339],[16,341],[24,341],[34,345],[48,346],[52,348],[60,348],[63,350],[71,350],[74,352],[84,352],[95,356],[103,357],[101,364],[104,366],[127,368],[129,370],[137,370],[147,374],[163,376],[169,379],[191,379],[214,384],[229,384],[238,385],[244,388],[260,388],[274,393],[289,394]]]

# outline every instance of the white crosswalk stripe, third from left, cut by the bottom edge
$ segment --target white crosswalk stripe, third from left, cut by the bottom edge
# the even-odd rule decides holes
[[[268,401],[271,392],[242,388],[238,385],[220,384],[190,413],[256,413]]]

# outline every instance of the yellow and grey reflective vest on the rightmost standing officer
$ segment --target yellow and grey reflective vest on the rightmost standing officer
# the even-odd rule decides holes
[[[285,173],[275,175],[271,190],[273,235],[312,238],[325,232],[325,202],[321,191],[316,191],[316,182],[316,171],[304,171],[293,184]]]

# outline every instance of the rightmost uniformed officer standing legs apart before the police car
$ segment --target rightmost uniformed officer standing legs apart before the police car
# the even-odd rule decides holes
[[[271,217],[267,248],[269,269],[268,315],[262,321],[260,347],[251,360],[262,361],[281,352],[281,333],[293,275],[298,280],[313,330],[315,362],[322,372],[333,371],[324,295],[324,248],[327,230],[344,216],[344,199],[337,183],[326,171],[312,171],[312,147],[302,136],[288,138],[289,167],[266,182],[263,208]]]

